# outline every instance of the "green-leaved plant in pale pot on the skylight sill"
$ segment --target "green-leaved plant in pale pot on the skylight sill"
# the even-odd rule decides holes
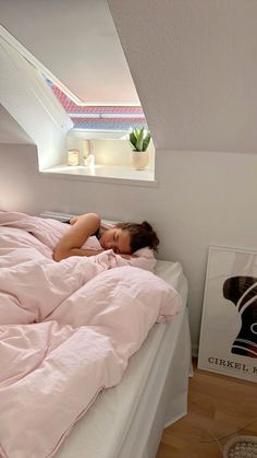
[[[151,139],[150,132],[144,126],[134,127],[128,134],[128,139],[133,148],[131,152],[132,166],[137,171],[142,171],[149,162],[147,148]]]

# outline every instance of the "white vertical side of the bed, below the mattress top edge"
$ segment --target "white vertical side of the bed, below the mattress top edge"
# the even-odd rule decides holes
[[[133,423],[115,458],[155,458],[163,427],[187,413],[191,343],[186,308],[167,326],[161,348],[161,357],[152,365]]]

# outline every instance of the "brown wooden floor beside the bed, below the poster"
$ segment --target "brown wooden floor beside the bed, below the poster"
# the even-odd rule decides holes
[[[156,458],[221,458],[213,436],[257,436],[257,384],[196,368],[189,378],[188,414],[163,431]]]

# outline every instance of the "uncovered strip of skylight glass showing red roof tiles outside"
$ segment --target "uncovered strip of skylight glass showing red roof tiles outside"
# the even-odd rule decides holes
[[[147,128],[140,106],[87,106],[74,103],[63,91],[47,80],[53,94],[70,116],[76,130],[127,131],[138,125]]]

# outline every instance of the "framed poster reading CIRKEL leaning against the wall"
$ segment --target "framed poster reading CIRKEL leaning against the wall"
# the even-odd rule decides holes
[[[257,251],[209,247],[198,367],[257,381]]]

